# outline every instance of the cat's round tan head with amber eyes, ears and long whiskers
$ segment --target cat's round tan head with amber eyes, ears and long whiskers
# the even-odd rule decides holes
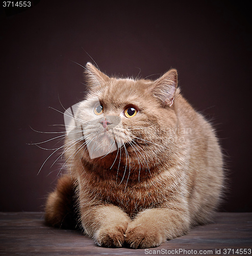
[[[177,71],[154,81],[110,78],[87,63],[85,75],[88,94],[71,110],[68,124],[72,154],[99,168],[115,168],[117,174],[127,168],[150,172],[171,150],[167,129],[177,123]]]

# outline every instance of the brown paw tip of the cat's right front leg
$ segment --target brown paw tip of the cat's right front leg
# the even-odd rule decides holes
[[[165,233],[153,223],[133,221],[125,233],[125,243],[133,249],[157,247],[165,240]]]

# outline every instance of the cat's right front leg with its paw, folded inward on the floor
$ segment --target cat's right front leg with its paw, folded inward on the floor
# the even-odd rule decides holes
[[[125,242],[134,249],[156,247],[187,233],[189,227],[189,215],[184,208],[146,209],[129,224]]]

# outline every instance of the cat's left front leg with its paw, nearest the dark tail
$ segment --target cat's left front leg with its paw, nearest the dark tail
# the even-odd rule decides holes
[[[85,232],[99,246],[122,247],[130,217],[119,207],[111,204],[81,207],[81,220]]]

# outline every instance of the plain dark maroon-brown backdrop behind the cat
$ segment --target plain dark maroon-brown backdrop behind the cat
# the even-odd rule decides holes
[[[56,152],[39,172],[53,151],[29,143],[57,136],[40,132],[64,131],[54,126],[64,124],[63,115],[51,108],[64,111],[83,98],[83,68],[74,62],[92,57],[109,75],[155,79],[178,69],[183,95],[214,123],[226,156],[229,193],[221,210],[251,211],[250,6],[121,2],[41,0],[16,14],[1,9],[0,210],[43,209],[61,160],[51,167]]]

